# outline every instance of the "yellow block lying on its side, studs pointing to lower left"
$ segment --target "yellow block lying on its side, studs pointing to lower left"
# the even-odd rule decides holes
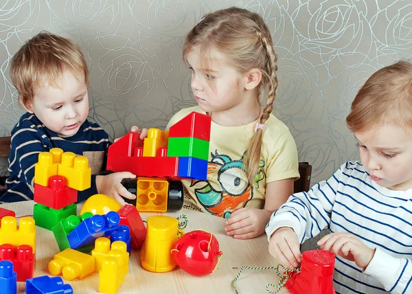
[[[82,279],[95,270],[95,258],[71,248],[57,253],[49,262],[49,272],[52,275],[63,274],[66,280]]]

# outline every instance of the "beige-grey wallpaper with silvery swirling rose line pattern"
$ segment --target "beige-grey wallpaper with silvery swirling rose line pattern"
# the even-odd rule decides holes
[[[0,137],[23,114],[10,60],[34,34],[71,38],[90,69],[90,114],[113,139],[130,126],[164,128],[196,104],[182,63],[185,34],[205,12],[237,5],[262,14],[279,56],[276,114],[290,128],[312,182],[358,150],[345,116],[376,69],[412,54],[410,0],[1,0]],[[5,170],[2,161],[2,171]]]

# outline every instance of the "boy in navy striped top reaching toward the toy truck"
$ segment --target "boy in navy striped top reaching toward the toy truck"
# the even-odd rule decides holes
[[[38,154],[58,147],[84,155],[92,169],[91,188],[78,192],[78,201],[106,194],[124,204],[134,199],[120,183],[130,172],[100,174],[110,145],[108,134],[89,122],[89,71],[77,45],[67,38],[41,32],[27,41],[12,60],[12,82],[27,111],[12,129],[8,191],[1,202],[33,199],[34,164]],[[142,131],[142,137],[146,131]]]

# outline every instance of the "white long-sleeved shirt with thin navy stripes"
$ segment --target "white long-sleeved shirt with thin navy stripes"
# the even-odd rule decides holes
[[[380,187],[357,161],[343,164],[308,193],[290,196],[271,216],[266,234],[279,227],[292,227],[301,243],[328,227],[376,248],[365,271],[336,257],[336,293],[412,293],[412,189]]]

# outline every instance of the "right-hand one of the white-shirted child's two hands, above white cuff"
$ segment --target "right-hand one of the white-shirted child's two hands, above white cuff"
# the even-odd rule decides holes
[[[317,242],[323,250],[331,251],[347,260],[356,262],[358,267],[366,269],[375,255],[375,249],[367,247],[361,239],[350,233],[332,233]]]

